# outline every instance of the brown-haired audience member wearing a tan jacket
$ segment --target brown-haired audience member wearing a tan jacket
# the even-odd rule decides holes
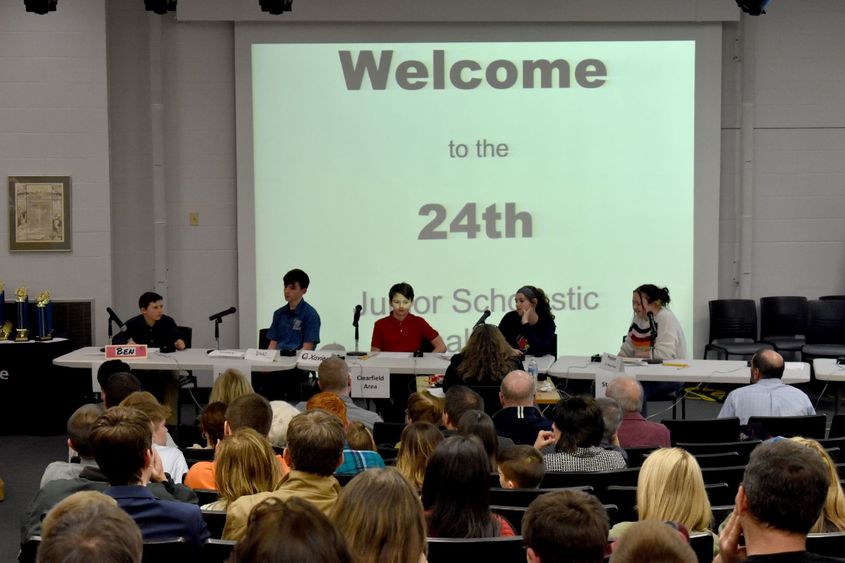
[[[340,484],[332,474],[343,461],[345,441],[343,425],[331,413],[316,409],[293,417],[285,448],[285,462],[291,468],[290,473],[282,477],[275,491],[247,495],[232,502],[226,514],[223,539],[243,538],[252,521],[250,512],[268,498],[299,497],[323,514],[330,513],[340,494]]]

